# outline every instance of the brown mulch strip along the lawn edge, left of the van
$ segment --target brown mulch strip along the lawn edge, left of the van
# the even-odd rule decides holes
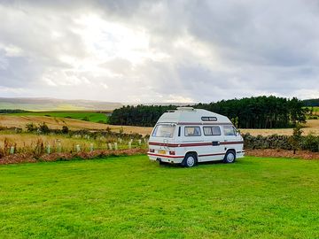
[[[43,154],[39,158],[35,158],[31,153],[17,153],[0,158],[0,165],[20,164],[20,163],[36,163],[36,162],[54,162],[61,160],[73,160],[74,158],[93,159],[108,156],[129,156],[136,154],[145,154],[147,150],[131,149],[131,150],[94,150],[92,152],[79,153],[52,153]]]

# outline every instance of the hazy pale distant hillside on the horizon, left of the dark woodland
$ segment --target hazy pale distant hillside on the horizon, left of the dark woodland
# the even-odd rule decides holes
[[[113,111],[121,103],[66,100],[55,98],[4,98],[0,97],[0,109],[20,109],[25,111]]]

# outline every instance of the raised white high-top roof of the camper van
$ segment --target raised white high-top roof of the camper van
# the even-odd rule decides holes
[[[194,109],[192,107],[178,107],[174,112],[170,111],[162,114],[158,123],[231,124],[231,121],[226,116],[218,113]]]

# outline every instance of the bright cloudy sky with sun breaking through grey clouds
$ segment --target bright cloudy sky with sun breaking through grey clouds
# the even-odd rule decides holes
[[[0,96],[319,97],[315,0],[0,0]]]

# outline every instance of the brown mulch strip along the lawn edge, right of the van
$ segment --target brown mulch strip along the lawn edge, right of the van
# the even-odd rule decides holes
[[[302,159],[319,159],[319,152],[310,152],[305,150],[297,150],[293,154],[293,150],[245,150],[246,156],[254,157],[274,157],[274,158],[302,158]]]

